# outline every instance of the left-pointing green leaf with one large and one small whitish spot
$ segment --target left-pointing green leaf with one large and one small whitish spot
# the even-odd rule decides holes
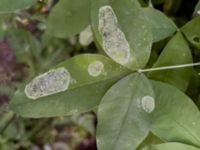
[[[97,107],[106,90],[127,73],[105,56],[79,55],[20,88],[10,106],[17,114],[33,118],[85,112]]]

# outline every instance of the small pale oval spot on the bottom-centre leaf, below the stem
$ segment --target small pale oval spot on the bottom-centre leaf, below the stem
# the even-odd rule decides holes
[[[155,100],[151,96],[144,96],[141,100],[141,107],[147,113],[151,113],[155,109]]]

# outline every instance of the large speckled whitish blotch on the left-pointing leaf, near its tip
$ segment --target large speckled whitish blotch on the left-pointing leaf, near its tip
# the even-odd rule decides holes
[[[52,95],[68,89],[70,73],[64,67],[50,70],[35,77],[25,87],[25,94],[30,99]]]

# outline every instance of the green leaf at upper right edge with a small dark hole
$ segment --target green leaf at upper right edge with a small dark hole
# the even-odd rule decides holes
[[[200,49],[200,17],[196,17],[181,28],[188,41]]]

